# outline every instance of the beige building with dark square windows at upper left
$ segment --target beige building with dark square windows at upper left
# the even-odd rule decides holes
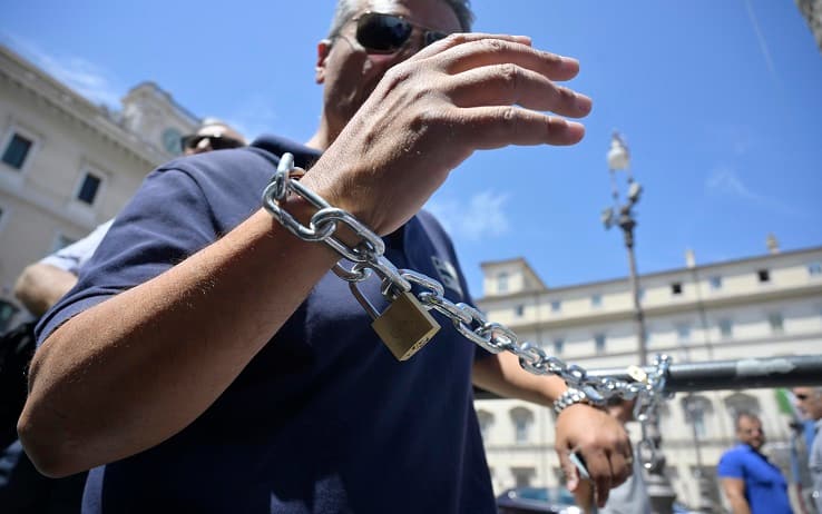
[[[199,125],[151,82],[121,107],[89,102],[0,46],[0,330],[25,315],[12,289],[26,265],[114,217]]]

